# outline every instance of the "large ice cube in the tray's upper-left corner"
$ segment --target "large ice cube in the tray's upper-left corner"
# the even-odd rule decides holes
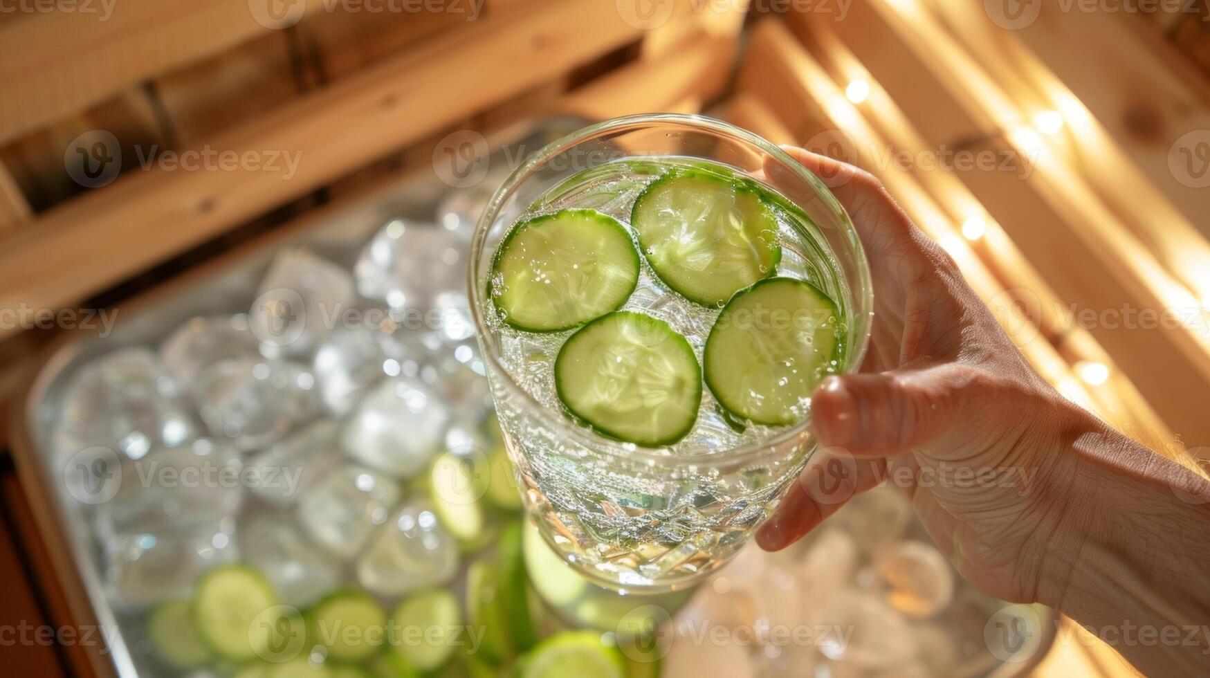
[[[85,364],[67,384],[53,444],[60,458],[108,447],[139,459],[198,433],[180,383],[150,350],[128,347]]]

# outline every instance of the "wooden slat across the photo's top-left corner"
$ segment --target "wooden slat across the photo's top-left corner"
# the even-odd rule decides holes
[[[267,0],[252,0],[260,2]],[[321,0],[306,0],[309,8]],[[0,142],[269,28],[249,0],[120,0],[0,23]]]

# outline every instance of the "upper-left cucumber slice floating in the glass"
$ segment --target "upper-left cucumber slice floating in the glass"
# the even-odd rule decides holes
[[[563,209],[505,237],[491,297],[512,327],[557,332],[618,309],[638,283],[639,252],[626,226],[595,209]]]

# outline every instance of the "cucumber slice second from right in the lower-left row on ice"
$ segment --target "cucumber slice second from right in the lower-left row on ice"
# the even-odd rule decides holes
[[[307,613],[311,638],[336,661],[358,661],[379,651],[386,610],[369,593],[344,588],[327,594]]]

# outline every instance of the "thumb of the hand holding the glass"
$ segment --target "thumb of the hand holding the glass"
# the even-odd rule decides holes
[[[881,456],[933,442],[958,421],[969,374],[946,363],[829,377],[811,400],[819,446]]]

